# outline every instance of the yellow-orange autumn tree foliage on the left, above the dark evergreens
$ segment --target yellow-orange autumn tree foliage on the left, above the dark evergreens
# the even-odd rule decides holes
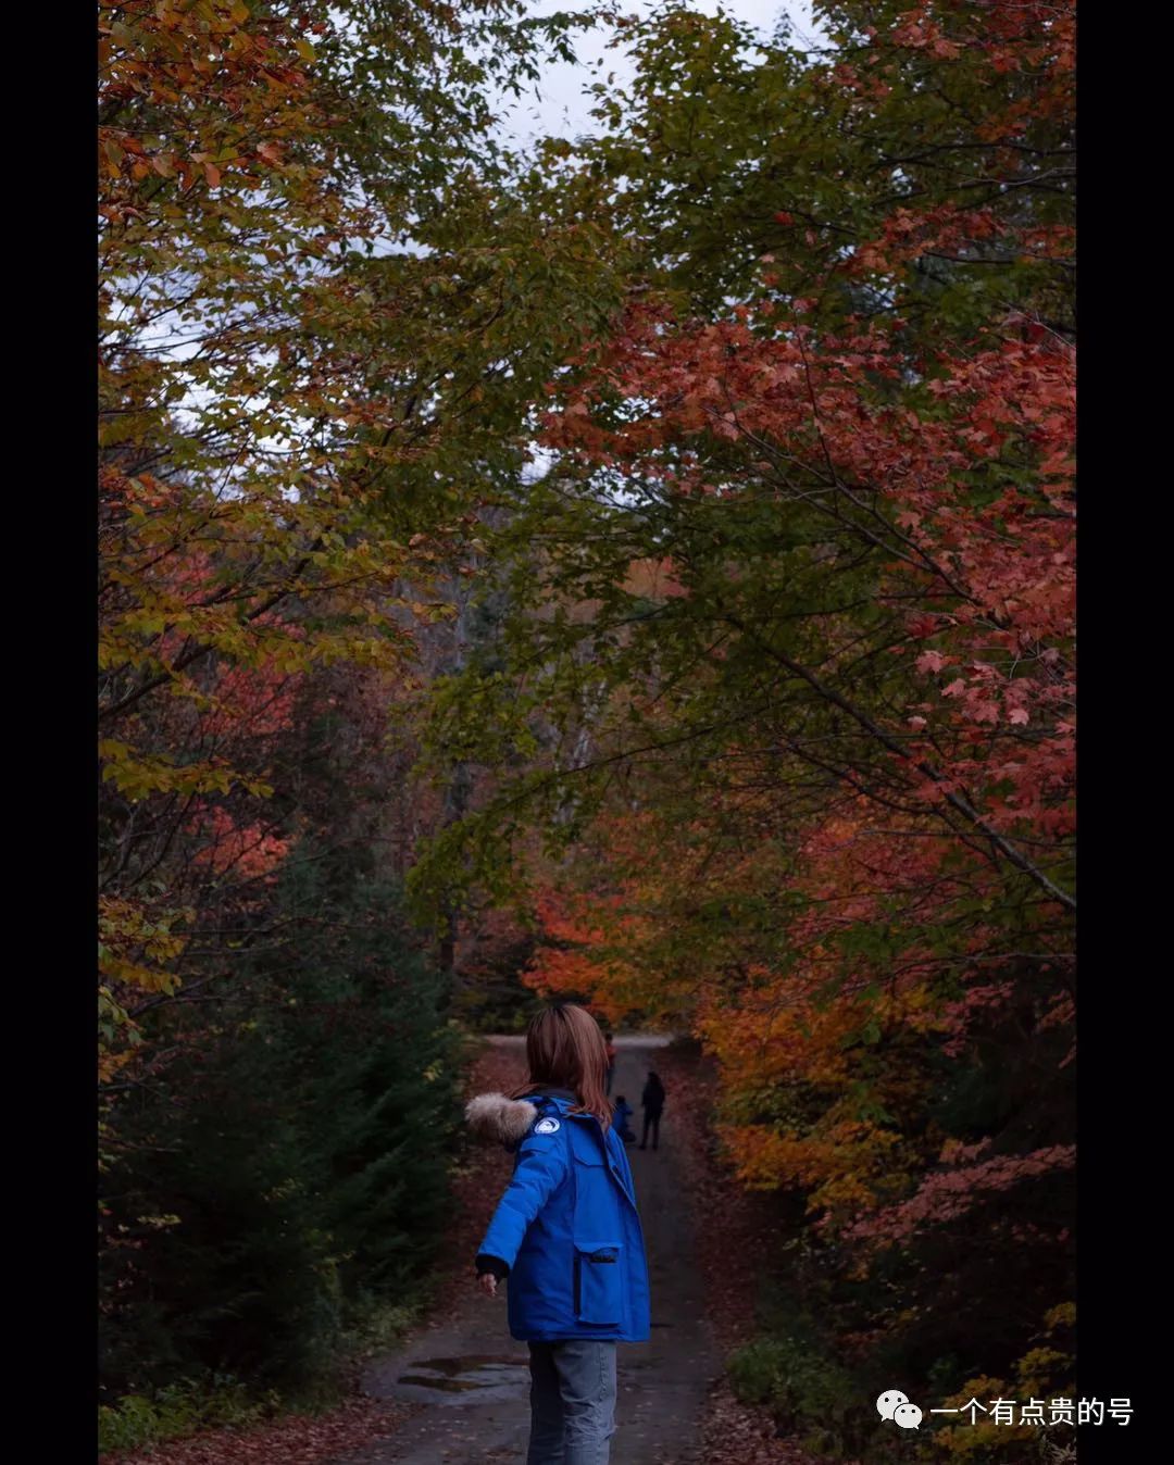
[[[100,7],[111,1030],[128,984],[173,986],[160,839],[268,790],[202,741],[221,677],[403,667],[535,385],[608,300],[589,192],[558,212],[494,142],[488,88],[566,45],[519,16]]]

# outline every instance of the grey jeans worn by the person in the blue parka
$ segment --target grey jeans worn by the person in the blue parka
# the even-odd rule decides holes
[[[526,1465],[607,1465],[616,1433],[616,1343],[531,1343]]]

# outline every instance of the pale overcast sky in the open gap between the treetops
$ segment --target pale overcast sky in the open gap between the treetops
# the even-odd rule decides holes
[[[553,15],[567,9],[575,9],[569,0],[534,0],[532,4],[535,15]],[[655,3],[654,0],[627,0],[617,9],[626,15],[633,12],[648,15],[655,9]],[[778,16],[786,12],[791,19],[794,40],[799,44],[819,37],[812,23],[811,0],[724,0],[721,6],[715,0],[702,0],[693,9],[706,15],[717,15],[718,9],[724,9],[739,21],[752,25],[762,35],[769,35]],[[617,82],[623,82],[632,75],[632,66],[623,51],[607,48],[607,41],[613,34],[602,28],[580,32],[575,40],[579,64],[569,66],[560,62],[547,67],[539,98],[531,94],[516,103],[510,100],[509,107],[503,104],[503,130],[514,142],[526,142],[535,136],[573,138],[577,133],[595,130],[598,125],[589,116],[594,98],[583,97],[583,88],[608,72],[614,72]],[[595,70],[594,63],[598,60],[604,62],[602,70]]]

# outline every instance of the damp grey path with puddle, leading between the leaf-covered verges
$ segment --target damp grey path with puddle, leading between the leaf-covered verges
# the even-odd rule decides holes
[[[519,1040],[494,1039],[495,1043]],[[617,1039],[614,1094],[636,1109],[664,1039]],[[693,1264],[693,1216],[674,1153],[673,1096],[658,1151],[632,1150],[652,1285],[652,1336],[620,1343],[620,1398],[611,1465],[699,1465],[698,1417],[717,1354]],[[525,1343],[506,1329],[504,1301],[470,1286],[443,1321],[374,1362],[363,1380],[378,1399],[418,1411],[380,1444],[337,1465],[520,1465],[529,1427]]]

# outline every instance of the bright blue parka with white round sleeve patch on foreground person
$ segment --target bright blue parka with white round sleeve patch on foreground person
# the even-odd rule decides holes
[[[479,1256],[509,1267],[510,1333],[520,1342],[648,1338],[648,1263],[627,1150],[613,1127],[532,1094],[513,1178]]]

